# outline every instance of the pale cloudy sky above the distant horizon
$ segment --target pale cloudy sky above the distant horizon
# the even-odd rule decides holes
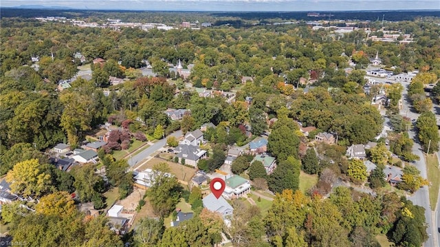
[[[1,7],[21,5],[65,6],[94,10],[440,10],[440,0],[0,0]]]

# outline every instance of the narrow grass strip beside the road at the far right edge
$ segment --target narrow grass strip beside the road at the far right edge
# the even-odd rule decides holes
[[[428,173],[428,180],[430,182],[429,186],[429,202],[431,208],[434,209],[437,206],[437,200],[439,197],[439,186],[440,186],[440,171],[439,171],[439,160],[437,155],[432,153],[430,155],[425,155],[426,169]]]

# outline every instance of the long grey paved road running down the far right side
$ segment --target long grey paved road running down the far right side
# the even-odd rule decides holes
[[[419,114],[417,114],[415,111],[413,111],[412,106],[410,105],[410,101],[408,98],[408,85],[409,82],[401,82],[401,84],[404,86],[404,92],[403,94],[403,109],[401,109],[400,114],[402,116],[407,116],[408,118],[411,118],[411,120],[417,120],[419,117]],[[415,153],[416,155],[419,155],[420,160],[417,160],[415,162],[415,167],[419,169],[420,175],[423,178],[428,178],[427,172],[426,172],[426,162],[425,158],[423,156],[423,151],[421,149],[421,146],[417,140],[415,128],[414,126],[408,130],[408,135],[412,140],[414,140],[414,145],[412,146],[412,153]],[[429,203],[429,192],[428,192],[428,186],[423,186],[418,191],[416,191],[413,195],[408,197],[408,199],[415,205],[423,206],[425,208],[425,217],[426,217],[426,224],[428,228],[426,228],[426,233],[428,233],[428,240],[423,244],[423,246],[426,247],[434,247],[434,246],[440,246],[440,243],[437,239],[437,220],[435,218],[437,215],[436,208],[431,208]],[[434,212],[433,212],[434,211]],[[437,244],[435,244],[437,243]]]

